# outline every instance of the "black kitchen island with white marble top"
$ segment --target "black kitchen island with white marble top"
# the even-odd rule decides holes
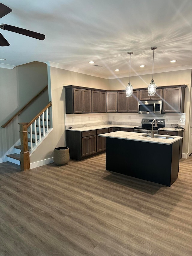
[[[179,172],[182,137],[116,131],[106,137],[106,170],[171,186]],[[171,137],[171,138],[170,138]]]

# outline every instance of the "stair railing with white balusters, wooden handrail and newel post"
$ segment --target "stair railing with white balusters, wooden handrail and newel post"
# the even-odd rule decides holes
[[[48,121],[48,109],[51,107],[51,101],[44,107],[44,109],[34,117],[34,119],[29,123],[19,123],[20,126],[20,138],[21,138],[21,152],[20,152],[20,165],[21,170],[30,170],[30,160],[29,160],[29,149],[28,149],[28,132],[30,133],[30,143],[31,151],[35,149],[38,141],[41,141],[46,134],[49,132],[49,121]],[[45,119],[46,113],[46,119]],[[42,119],[42,120],[41,120]],[[46,125],[45,125],[46,122]],[[43,128],[43,133],[41,134],[41,123]],[[38,127],[38,131],[37,131]],[[33,139],[32,134],[34,133],[35,139]],[[39,136],[39,139],[37,137]],[[33,146],[35,143],[35,146]]]

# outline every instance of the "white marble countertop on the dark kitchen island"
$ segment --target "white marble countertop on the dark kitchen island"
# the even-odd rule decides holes
[[[177,140],[181,140],[183,138],[180,136],[168,136],[168,135],[160,135],[160,134],[154,134],[154,136],[155,136],[154,138],[142,137],[141,135],[147,135],[147,134],[143,134],[140,132],[128,132],[128,131],[115,131],[115,132],[99,134],[99,136],[107,137],[107,138],[115,138],[115,139],[123,139],[123,140],[136,140],[136,141],[166,144],[166,145],[170,145],[170,144],[176,142]],[[162,139],[160,137],[173,137],[173,139]]]

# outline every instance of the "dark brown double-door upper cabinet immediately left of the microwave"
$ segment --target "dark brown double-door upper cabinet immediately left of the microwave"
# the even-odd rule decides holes
[[[118,92],[118,112],[138,112],[139,91],[133,91],[132,97],[126,97],[125,91]]]

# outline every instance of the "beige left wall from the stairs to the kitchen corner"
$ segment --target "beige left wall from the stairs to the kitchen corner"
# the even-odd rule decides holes
[[[65,146],[65,85],[76,85],[98,89],[109,89],[109,80],[85,74],[48,67],[49,100],[52,101],[53,130],[44,143],[30,157],[30,163],[53,157],[53,149]]]

